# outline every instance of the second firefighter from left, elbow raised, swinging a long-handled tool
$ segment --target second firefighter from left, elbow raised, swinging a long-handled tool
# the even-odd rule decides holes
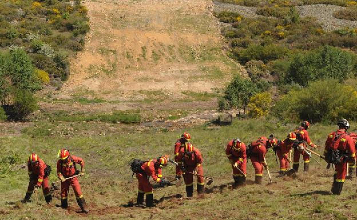
[[[82,209],[83,212],[87,213],[86,208],[86,201],[84,200],[82,191],[81,191],[81,186],[79,185],[79,181],[77,177],[67,179],[71,176],[77,175],[77,170],[76,170],[76,164],[80,164],[81,166],[81,171],[79,174],[81,176],[84,175],[84,160],[80,157],[76,157],[74,155],[70,155],[69,150],[67,149],[61,149],[59,151],[58,157],[60,158],[57,161],[57,176],[58,178],[62,181],[61,182],[61,207],[64,209],[68,208],[68,202],[67,202],[67,196],[68,196],[68,190],[69,186],[71,185],[73,188],[73,191],[76,195],[76,200],[79,205],[79,207]]]

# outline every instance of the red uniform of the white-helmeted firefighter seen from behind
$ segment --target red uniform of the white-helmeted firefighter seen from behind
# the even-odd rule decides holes
[[[328,138],[325,142],[325,154],[331,149],[331,145],[333,144],[333,139],[335,138],[335,134],[340,135],[340,143],[338,143],[337,149],[340,153],[346,154],[350,158],[350,163],[355,163],[356,160],[356,147],[353,139],[343,130],[339,129],[337,132],[332,132],[328,135]],[[338,140],[336,140],[338,141]],[[343,162],[340,164],[335,164],[335,176],[334,179],[336,182],[345,182],[346,173],[347,173],[347,162]]]

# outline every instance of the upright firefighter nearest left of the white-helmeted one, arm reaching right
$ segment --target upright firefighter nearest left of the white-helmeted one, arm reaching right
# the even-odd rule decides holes
[[[317,145],[311,142],[309,133],[306,131],[308,128],[310,128],[310,123],[308,121],[303,121],[301,126],[295,131],[296,141],[294,144],[293,169],[296,172],[299,169],[300,155],[302,155],[302,158],[304,159],[304,172],[309,170],[310,156],[306,153],[305,150],[303,150],[304,148],[306,149],[307,144],[312,148],[317,148]],[[298,147],[299,144],[302,145],[300,148]]]

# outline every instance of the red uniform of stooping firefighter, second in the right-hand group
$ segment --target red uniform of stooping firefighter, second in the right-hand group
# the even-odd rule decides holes
[[[250,160],[255,169],[255,176],[263,176],[263,167],[265,163],[265,154],[267,152],[266,144],[268,143],[268,138],[260,137],[255,142],[251,143],[251,156]]]

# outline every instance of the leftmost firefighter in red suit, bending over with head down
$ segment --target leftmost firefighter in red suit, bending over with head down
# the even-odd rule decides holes
[[[52,200],[50,193],[48,174],[46,172],[47,164],[39,158],[35,153],[32,153],[27,160],[27,171],[29,174],[30,182],[27,187],[27,193],[22,203],[26,203],[31,198],[33,191],[37,191],[42,186],[42,191],[45,196],[46,203],[49,204]]]

